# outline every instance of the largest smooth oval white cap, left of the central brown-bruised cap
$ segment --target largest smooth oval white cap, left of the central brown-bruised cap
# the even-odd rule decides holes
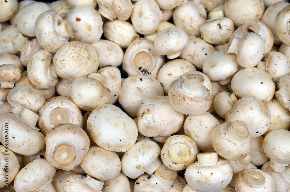
[[[112,104],[97,107],[88,117],[87,128],[93,141],[109,151],[126,152],[138,136],[134,120]]]

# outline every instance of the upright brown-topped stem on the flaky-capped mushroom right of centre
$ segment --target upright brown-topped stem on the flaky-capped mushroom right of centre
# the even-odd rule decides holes
[[[182,91],[188,95],[196,95],[202,92],[204,78],[199,74],[188,74],[181,87]]]

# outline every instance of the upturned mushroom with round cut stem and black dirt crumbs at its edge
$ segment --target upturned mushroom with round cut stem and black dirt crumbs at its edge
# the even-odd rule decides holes
[[[144,38],[135,39],[125,51],[122,68],[131,75],[138,75],[146,69],[153,77],[164,63],[164,57],[155,50],[153,42]]]

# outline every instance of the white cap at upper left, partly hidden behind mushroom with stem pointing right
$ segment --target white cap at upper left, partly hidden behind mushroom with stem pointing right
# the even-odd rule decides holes
[[[28,37],[35,37],[35,22],[37,17],[46,10],[51,10],[51,8],[44,2],[33,2],[23,7],[17,18],[17,27],[21,33]]]

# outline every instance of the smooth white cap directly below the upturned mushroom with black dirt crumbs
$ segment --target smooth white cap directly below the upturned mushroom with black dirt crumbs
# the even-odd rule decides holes
[[[134,118],[143,99],[163,95],[163,88],[157,79],[151,75],[133,75],[123,81],[118,101],[124,111]]]

